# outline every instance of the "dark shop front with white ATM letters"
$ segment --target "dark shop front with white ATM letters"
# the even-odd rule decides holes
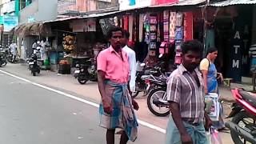
[[[241,82],[242,77],[251,75],[249,50],[254,44],[254,5],[225,6],[224,3],[226,2],[219,5],[221,2],[217,2],[207,7],[205,18],[197,13],[206,20],[206,26],[203,29],[203,22],[199,20],[194,26],[195,32],[199,39],[204,39],[205,51],[210,47],[218,49],[218,58],[215,61],[218,71],[222,72],[225,78]],[[200,37],[200,30],[204,30],[205,38]]]

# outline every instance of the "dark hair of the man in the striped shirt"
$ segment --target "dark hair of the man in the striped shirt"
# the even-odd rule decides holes
[[[182,44],[182,54],[186,54],[188,51],[200,53],[202,55],[203,46],[198,40],[186,41]]]

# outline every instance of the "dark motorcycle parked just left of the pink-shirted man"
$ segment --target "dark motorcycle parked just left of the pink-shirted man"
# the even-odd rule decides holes
[[[86,65],[77,63],[76,69],[74,70],[74,78],[78,78],[80,84],[86,84],[87,81],[97,81],[97,68],[94,58],[86,61]]]

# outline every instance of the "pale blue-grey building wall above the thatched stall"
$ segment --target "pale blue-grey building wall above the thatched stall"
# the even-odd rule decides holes
[[[19,21],[26,23],[30,17],[35,22],[54,20],[57,18],[57,4],[57,0],[35,0],[20,11]]]

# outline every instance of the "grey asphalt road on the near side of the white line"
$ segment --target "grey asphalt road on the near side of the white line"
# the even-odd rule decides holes
[[[0,91],[2,144],[105,143],[105,130],[98,126],[95,106],[2,72]],[[135,143],[164,143],[164,138],[157,130],[139,126]],[[118,139],[116,135],[116,143]]]

